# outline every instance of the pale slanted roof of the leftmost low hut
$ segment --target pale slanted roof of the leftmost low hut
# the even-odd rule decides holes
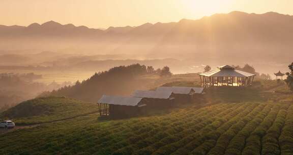
[[[124,96],[110,96],[103,95],[98,103],[122,106],[137,106],[142,98],[139,97],[124,97]]]

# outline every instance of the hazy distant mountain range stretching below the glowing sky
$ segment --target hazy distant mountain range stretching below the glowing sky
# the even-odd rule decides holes
[[[198,20],[145,23],[106,30],[54,21],[33,23],[28,27],[0,25],[0,49],[136,54],[143,58],[192,57],[225,62],[231,61],[233,56],[236,62],[255,58],[278,62],[292,59],[292,34],[293,16],[234,11]]]

